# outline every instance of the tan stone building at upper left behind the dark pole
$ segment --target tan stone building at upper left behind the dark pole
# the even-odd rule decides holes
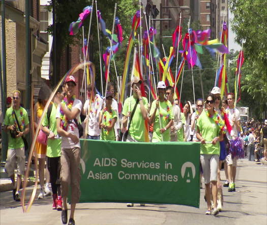
[[[33,1],[33,11],[38,9],[39,1]],[[32,12],[37,15],[39,10]],[[35,16],[37,17],[37,16]],[[7,73],[7,97],[12,96],[13,90],[20,90],[22,94],[22,104],[26,104],[25,91],[29,86],[26,81],[26,40],[25,40],[25,0],[6,1],[5,3],[5,26],[6,26],[6,73]],[[0,22],[1,18],[0,18]],[[47,51],[47,43],[39,36],[40,22],[34,17],[29,17],[31,29],[31,70],[30,80],[34,87],[40,87],[43,79],[41,78],[41,66],[44,54]],[[1,32],[2,34],[2,32]],[[2,39],[3,37],[1,37]],[[2,42],[1,42],[2,44]],[[1,45],[1,49],[2,49]],[[35,95],[38,92],[35,89]],[[38,94],[38,93],[37,93]]]

